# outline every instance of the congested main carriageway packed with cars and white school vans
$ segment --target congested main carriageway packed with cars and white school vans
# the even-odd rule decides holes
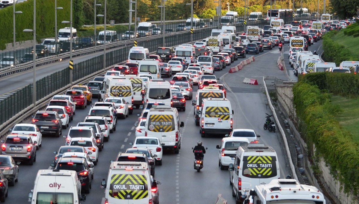
[[[323,15],[291,24],[272,18],[244,33],[226,25],[202,41],[158,47],[155,54],[130,48],[125,64],[53,96],[9,129],[1,140],[0,201],[210,203],[221,193],[236,204],[325,204],[316,187],[289,176],[280,148],[269,145],[272,115],[263,125],[265,118],[242,110],[222,78],[239,58],[277,48],[285,56],[286,43],[296,76],[356,74],[358,61],[336,67],[310,51],[326,32],[350,24]]]

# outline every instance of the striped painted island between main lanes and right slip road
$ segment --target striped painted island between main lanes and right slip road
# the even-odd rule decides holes
[[[266,51],[268,53],[257,57],[254,62],[245,65],[242,70],[225,75],[224,81],[234,93],[260,93],[264,76],[288,80],[284,71],[279,70],[277,65],[277,60],[280,56],[279,50]],[[244,84],[244,78],[257,79],[258,85]]]

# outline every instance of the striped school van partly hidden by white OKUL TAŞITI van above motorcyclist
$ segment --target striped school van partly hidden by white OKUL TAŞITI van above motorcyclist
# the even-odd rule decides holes
[[[196,94],[196,99],[192,101],[193,114],[195,115],[195,123],[196,125],[200,125],[200,107],[202,107],[202,100],[204,98],[225,98],[224,93],[218,87],[203,87],[202,89],[198,89]]]

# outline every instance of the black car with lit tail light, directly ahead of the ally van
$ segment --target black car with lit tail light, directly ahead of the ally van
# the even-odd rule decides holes
[[[60,158],[59,162],[55,166],[51,164],[54,169],[58,170],[73,170],[77,172],[77,176],[81,182],[81,191],[84,193],[90,193],[92,178],[90,176],[90,168],[93,168],[93,164],[88,164],[84,158]]]

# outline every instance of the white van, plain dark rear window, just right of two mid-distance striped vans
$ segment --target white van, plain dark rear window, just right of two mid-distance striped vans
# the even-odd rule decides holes
[[[143,105],[162,102],[172,107],[171,84],[163,79],[152,79],[146,82],[143,93]]]

